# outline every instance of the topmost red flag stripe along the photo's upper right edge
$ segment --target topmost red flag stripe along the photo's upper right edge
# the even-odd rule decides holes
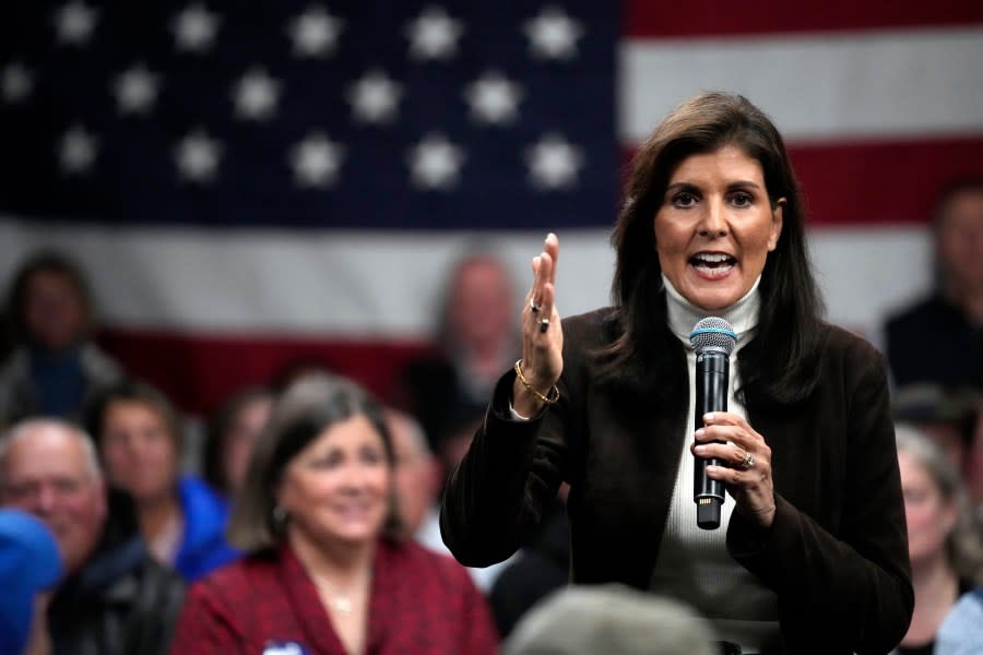
[[[928,27],[983,23],[980,0],[940,2],[777,2],[775,0],[690,0],[625,5],[629,37],[734,36],[787,32],[828,32],[885,27]]]

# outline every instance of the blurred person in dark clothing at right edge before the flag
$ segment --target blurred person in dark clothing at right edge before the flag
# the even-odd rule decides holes
[[[895,383],[983,389],[983,179],[945,189],[932,236],[936,287],[887,322]]]

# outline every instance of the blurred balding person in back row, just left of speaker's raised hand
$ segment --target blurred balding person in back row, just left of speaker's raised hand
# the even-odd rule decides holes
[[[437,450],[462,408],[484,412],[502,370],[519,357],[519,311],[508,269],[487,252],[453,267],[440,310],[435,352],[411,361],[395,393]]]

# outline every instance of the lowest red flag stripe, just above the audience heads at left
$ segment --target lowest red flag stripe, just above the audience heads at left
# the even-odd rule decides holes
[[[105,330],[99,344],[129,374],[151,382],[192,414],[206,414],[244,386],[271,383],[300,368],[346,376],[387,400],[405,364],[427,349],[410,341],[205,336],[130,329]]]

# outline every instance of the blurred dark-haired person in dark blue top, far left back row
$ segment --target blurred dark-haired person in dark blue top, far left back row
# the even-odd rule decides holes
[[[0,369],[0,424],[34,415],[78,419],[99,388],[121,377],[91,341],[88,288],[64,255],[28,259],[14,275],[7,311],[16,345]]]

